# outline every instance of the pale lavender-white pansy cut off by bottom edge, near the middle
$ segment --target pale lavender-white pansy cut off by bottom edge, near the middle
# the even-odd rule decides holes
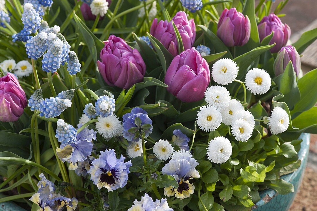
[[[161,200],[157,199],[156,201],[153,201],[152,197],[150,197],[146,193],[144,194],[144,197],[143,196],[141,197],[141,201],[135,200],[133,203],[134,205],[130,209],[128,209],[128,211],[135,211],[135,210],[173,211],[173,209],[168,206],[166,199],[161,199]]]

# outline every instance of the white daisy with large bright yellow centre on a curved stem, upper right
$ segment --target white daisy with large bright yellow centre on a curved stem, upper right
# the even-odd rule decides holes
[[[271,77],[264,69],[251,69],[245,76],[247,89],[255,95],[267,93],[271,87],[271,83]]]

